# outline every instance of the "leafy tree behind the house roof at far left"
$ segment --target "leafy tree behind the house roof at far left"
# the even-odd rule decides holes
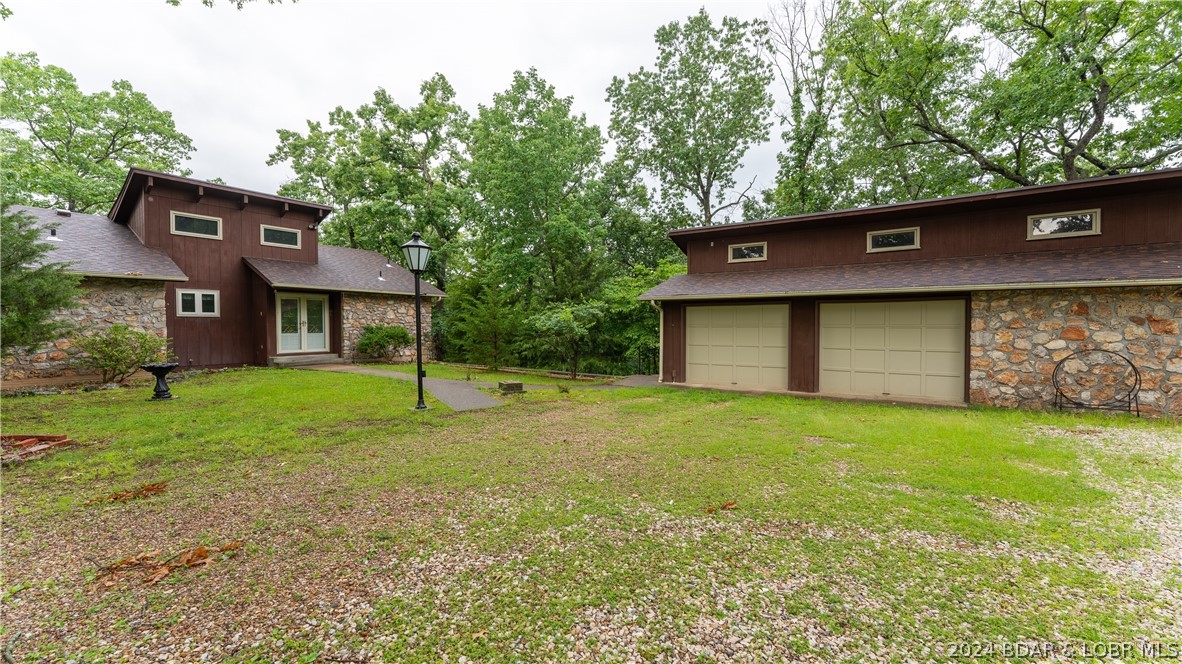
[[[126,80],[85,95],[74,77],[37,54],[0,60],[0,187],[9,202],[105,211],[130,167],[188,175],[181,164],[193,142],[173,115],[152,105]]]

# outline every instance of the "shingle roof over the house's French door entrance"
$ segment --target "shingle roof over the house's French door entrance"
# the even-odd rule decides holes
[[[255,258],[242,260],[264,281],[277,288],[400,295],[415,293],[415,275],[401,266],[388,265],[385,256],[377,252],[326,245],[320,245],[319,250],[320,260],[317,263]],[[423,295],[443,297],[443,291],[427,281],[422,282],[422,292]]]

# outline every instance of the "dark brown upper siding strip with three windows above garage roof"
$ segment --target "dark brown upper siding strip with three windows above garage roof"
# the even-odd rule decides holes
[[[1026,217],[1066,210],[1100,209],[1100,235],[1027,240]],[[920,248],[866,253],[866,233],[920,228]],[[872,222],[810,221],[761,232],[735,227],[734,234],[689,239],[686,254],[690,273],[745,272],[825,265],[892,262],[955,256],[980,256],[1182,241],[1182,190],[1157,190],[1122,196],[1079,197],[1039,204],[987,207],[955,214],[895,215]],[[767,242],[767,260],[727,262],[727,247]],[[712,246],[713,245],[713,246]]]

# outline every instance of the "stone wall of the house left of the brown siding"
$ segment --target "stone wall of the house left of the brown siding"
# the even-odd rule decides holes
[[[91,337],[119,323],[134,330],[168,336],[163,281],[87,278],[80,287],[80,306],[57,314],[59,320],[69,320],[76,326],[74,336],[46,344],[25,356],[5,358],[4,380],[87,376],[89,371],[73,362],[77,354],[73,338]]]

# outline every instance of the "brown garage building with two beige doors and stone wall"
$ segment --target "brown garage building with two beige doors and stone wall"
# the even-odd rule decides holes
[[[1182,169],[669,234],[661,380],[1047,408],[1056,363],[1129,357],[1182,415]]]

